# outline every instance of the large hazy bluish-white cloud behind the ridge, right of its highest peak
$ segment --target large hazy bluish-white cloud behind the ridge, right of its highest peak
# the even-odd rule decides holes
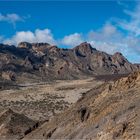
[[[140,38],[130,34],[124,35],[111,23],[105,24],[97,31],[90,31],[86,40],[100,51],[109,54],[121,52],[131,62],[140,61],[140,57],[137,57],[140,53]],[[136,59],[138,60],[136,61]]]

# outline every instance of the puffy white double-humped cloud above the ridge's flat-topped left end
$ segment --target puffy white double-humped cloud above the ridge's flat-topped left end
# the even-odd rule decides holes
[[[50,44],[55,44],[56,41],[53,38],[53,34],[49,29],[36,29],[34,32],[31,31],[20,31],[17,32],[11,38],[5,39],[3,43],[17,45],[19,42],[47,42]]]

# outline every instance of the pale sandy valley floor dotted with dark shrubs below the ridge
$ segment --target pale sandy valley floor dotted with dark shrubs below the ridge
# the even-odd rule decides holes
[[[59,80],[54,83],[27,84],[19,90],[0,91],[0,110],[12,108],[32,119],[42,119],[60,113],[91,88],[102,84],[93,78]],[[23,85],[22,85],[23,86]]]

